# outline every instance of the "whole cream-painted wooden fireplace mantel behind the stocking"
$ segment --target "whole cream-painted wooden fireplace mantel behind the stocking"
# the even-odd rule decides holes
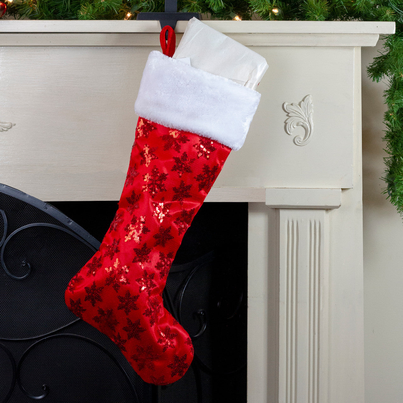
[[[245,145],[208,195],[249,202],[248,402],[363,403],[361,47],[394,23],[206,23],[269,65]],[[0,182],[46,201],[117,200],[159,30],[0,21]],[[301,102],[313,113],[295,117]]]

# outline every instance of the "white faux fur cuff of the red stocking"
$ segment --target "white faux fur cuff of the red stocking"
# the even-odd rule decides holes
[[[260,93],[154,50],[148,56],[135,112],[239,150]]]

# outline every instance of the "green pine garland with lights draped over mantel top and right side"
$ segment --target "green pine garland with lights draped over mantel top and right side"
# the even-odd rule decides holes
[[[164,0],[5,1],[8,15],[29,19],[123,19],[127,12],[164,11]],[[368,76],[389,82],[384,91],[384,193],[403,216],[403,0],[178,0],[178,10],[210,14],[212,19],[238,15],[243,20],[395,21],[396,34],[386,38],[384,51],[368,66]]]

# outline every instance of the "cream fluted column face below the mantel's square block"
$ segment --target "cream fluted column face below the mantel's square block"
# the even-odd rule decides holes
[[[279,401],[327,402],[329,213],[278,209]]]

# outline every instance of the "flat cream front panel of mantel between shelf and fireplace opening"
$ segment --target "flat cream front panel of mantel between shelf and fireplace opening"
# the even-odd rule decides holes
[[[47,201],[119,199],[137,121],[133,105],[156,48],[0,47],[0,121],[15,123],[0,137],[0,181]],[[260,106],[215,186],[351,187],[353,48],[255,49],[269,64]],[[285,132],[283,103],[307,94],[315,129],[298,146]]]

